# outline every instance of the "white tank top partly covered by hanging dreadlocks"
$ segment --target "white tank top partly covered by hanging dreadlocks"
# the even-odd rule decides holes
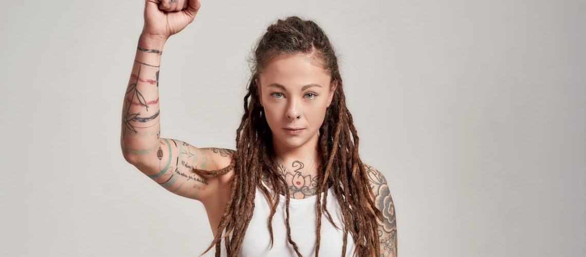
[[[266,184],[263,186],[271,194],[274,191],[269,189]],[[293,246],[287,239],[287,225],[285,213],[285,196],[280,196],[280,202],[277,206],[277,212],[272,217],[272,234],[273,245],[271,248],[271,235],[268,231],[268,216],[271,213],[270,205],[267,203],[263,192],[256,187],[256,196],[254,197],[254,213],[248,224],[246,234],[240,248],[239,256],[297,256]],[[304,257],[315,256],[315,228],[317,215],[315,203],[317,195],[304,199],[289,199],[289,227],[291,228],[291,239],[297,244],[299,252]],[[322,193],[323,199],[323,193]],[[342,222],[342,210],[338,204],[338,198],[330,187],[328,189],[328,203],[326,204],[332,220],[340,228],[336,229],[329,222],[325,212],[322,212],[321,242],[319,244],[319,256],[342,256],[342,239],[344,236],[344,223]],[[222,240],[223,241],[223,240]],[[348,232],[346,256],[352,257],[355,249],[352,234]],[[222,256],[226,256],[226,248],[222,242]]]

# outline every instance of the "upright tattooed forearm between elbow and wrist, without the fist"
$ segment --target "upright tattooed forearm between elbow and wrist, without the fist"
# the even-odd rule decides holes
[[[154,155],[161,138],[159,67],[165,42],[141,36],[124,94],[120,144],[125,159]]]

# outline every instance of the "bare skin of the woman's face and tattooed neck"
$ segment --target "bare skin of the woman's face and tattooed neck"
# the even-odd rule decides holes
[[[311,54],[297,53],[272,60],[256,80],[260,102],[272,132],[272,145],[281,162],[279,170],[292,198],[316,191],[318,130],[331,105],[337,83]],[[291,135],[285,128],[302,128]],[[265,180],[267,186],[270,182]]]

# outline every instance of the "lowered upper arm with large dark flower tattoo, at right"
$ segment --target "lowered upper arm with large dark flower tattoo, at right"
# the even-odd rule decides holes
[[[370,186],[374,193],[374,204],[383,214],[383,220],[377,218],[379,224],[380,256],[397,256],[397,221],[395,205],[389,185],[383,173],[372,166],[364,164],[369,175]]]

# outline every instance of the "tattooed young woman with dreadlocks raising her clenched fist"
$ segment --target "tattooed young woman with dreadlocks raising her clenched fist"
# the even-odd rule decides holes
[[[122,109],[125,159],[203,203],[214,234],[205,252],[215,245],[216,256],[397,256],[389,187],[360,160],[336,55],[311,20],[278,20],[258,41],[236,150],[161,137],[163,45],[199,8],[146,1]]]

